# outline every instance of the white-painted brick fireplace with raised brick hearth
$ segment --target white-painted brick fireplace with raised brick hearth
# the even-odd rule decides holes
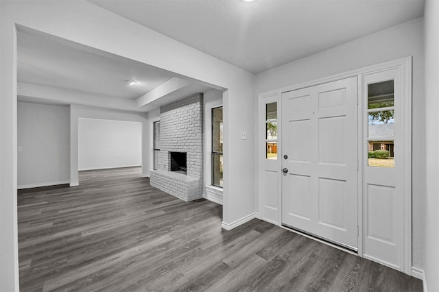
[[[185,201],[202,197],[202,110],[202,93],[160,108],[160,154],[150,183]]]

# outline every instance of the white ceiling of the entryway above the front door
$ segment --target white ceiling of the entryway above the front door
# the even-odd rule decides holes
[[[423,16],[424,0],[89,0],[259,73]]]

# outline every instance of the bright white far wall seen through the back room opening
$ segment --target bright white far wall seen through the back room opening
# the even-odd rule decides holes
[[[141,165],[141,123],[79,119],[78,168],[80,171]]]

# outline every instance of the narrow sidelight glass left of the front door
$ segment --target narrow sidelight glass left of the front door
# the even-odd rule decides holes
[[[265,158],[277,159],[277,102],[265,105]]]

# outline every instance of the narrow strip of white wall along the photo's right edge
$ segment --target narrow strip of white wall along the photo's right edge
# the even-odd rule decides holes
[[[439,287],[439,1],[425,3],[425,198],[424,269],[428,291]]]

